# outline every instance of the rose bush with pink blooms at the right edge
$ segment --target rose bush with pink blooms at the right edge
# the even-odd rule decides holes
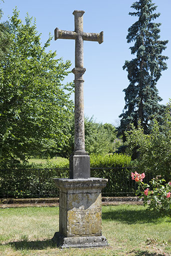
[[[144,172],[142,174],[136,171],[131,172],[131,177],[138,183],[138,189],[136,195],[144,197],[143,204],[148,205],[150,210],[157,211],[161,216],[167,215],[171,217],[171,182],[166,183],[161,176],[152,178],[150,185],[143,183],[142,179],[145,177]]]

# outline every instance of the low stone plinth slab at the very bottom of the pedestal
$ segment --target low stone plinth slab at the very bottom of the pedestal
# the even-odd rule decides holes
[[[55,232],[52,241],[59,248],[91,248],[108,245],[105,236],[76,236],[64,237],[60,232]]]

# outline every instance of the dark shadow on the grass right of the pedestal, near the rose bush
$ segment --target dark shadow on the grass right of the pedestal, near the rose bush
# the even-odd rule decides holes
[[[103,220],[118,220],[127,224],[133,223],[148,223],[154,222],[158,223],[162,221],[159,214],[152,211],[146,210],[145,208],[132,209],[127,206],[127,208],[119,209],[117,206],[108,206],[102,211]],[[171,219],[167,220],[168,222]]]

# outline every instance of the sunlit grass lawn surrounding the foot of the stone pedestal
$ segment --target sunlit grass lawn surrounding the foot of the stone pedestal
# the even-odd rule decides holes
[[[104,248],[59,249],[50,242],[58,231],[58,207],[0,209],[1,256],[166,256],[171,255],[171,219],[142,205],[102,207]]]

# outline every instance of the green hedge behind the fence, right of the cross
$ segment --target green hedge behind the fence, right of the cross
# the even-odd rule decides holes
[[[134,187],[130,182],[131,158],[123,154],[91,154],[91,177],[107,178],[102,190],[103,196],[133,195]]]

